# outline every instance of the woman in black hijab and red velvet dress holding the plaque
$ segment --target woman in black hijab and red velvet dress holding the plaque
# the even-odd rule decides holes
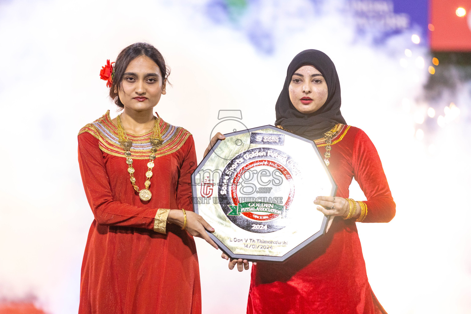
[[[334,219],[324,236],[283,264],[254,263],[249,314],[386,313],[368,283],[356,223],[389,222],[396,204],[373,143],[346,124],[340,105],[332,60],[313,49],[295,56],[276,102],[275,124],[313,140],[324,155],[338,190],[335,197],[317,197],[313,209]],[[352,178],[366,201],[349,199]],[[246,260],[229,262],[230,269],[235,265],[248,269]]]

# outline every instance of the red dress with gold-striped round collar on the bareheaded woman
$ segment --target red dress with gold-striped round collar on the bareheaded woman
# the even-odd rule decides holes
[[[93,220],[80,282],[79,314],[199,314],[201,288],[193,237],[168,225],[170,209],[193,210],[196,168],[191,134],[161,120],[150,201],[141,201],[127,171],[109,112],[81,129],[79,164]],[[129,135],[134,177],[144,187],[151,133]]]

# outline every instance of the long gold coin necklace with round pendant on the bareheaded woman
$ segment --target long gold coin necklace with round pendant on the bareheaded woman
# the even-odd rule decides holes
[[[162,136],[160,135],[159,120],[160,118],[155,119],[152,135],[150,136],[150,144],[152,145],[152,148],[150,149],[151,153],[149,154],[149,162],[147,162],[148,169],[146,171],[146,182],[144,182],[146,188],[139,191],[139,187],[136,185],[136,178],[134,177],[135,169],[132,167],[130,151],[132,147],[132,141],[127,137],[126,131],[122,127],[121,114],[116,117],[116,122],[118,123],[118,142],[124,150],[124,155],[126,156],[126,164],[128,165],[131,184],[134,190],[139,192],[139,198],[143,201],[149,201],[152,197],[152,193],[149,191],[149,186],[150,178],[153,175],[152,168],[154,168],[155,153],[157,153],[157,147],[163,143]]]

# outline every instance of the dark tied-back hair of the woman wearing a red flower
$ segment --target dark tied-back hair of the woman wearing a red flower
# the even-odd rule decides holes
[[[130,62],[138,56],[147,56],[157,64],[160,69],[160,73],[162,74],[162,82],[166,81],[170,75],[170,68],[165,65],[165,60],[163,60],[162,54],[151,44],[146,42],[137,42],[122,49],[116,58],[116,63],[114,64],[113,84],[110,87],[110,97],[118,107],[124,108],[117,92],[121,87],[122,77]]]

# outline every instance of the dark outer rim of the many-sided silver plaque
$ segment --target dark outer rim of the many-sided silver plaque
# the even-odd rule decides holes
[[[330,173],[329,168],[325,164],[324,158],[322,158],[322,155],[319,152],[319,149],[317,148],[316,144],[313,141],[311,141],[311,140],[309,140],[305,137],[300,137],[299,135],[293,134],[293,133],[288,132],[284,129],[276,128],[275,126],[273,126],[271,124],[260,126],[260,127],[257,127],[257,128],[251,128],[251,129],[246,129],[246,130],[242,130],[242,131],[227,133],[227,134],[224,134],[224,136],[225,137],[231,137],[231,136],[235,136],[235,135],[239,135],[239,134],[243,134],[243,133],[250,133],[250,132],[253,132],[253,131],[256,131],[256,130],[260,130],[260,129],[273,129],[277,132],[286,134],[286,135],[291,136],[291,137],[296,137],[296,138],[298,138],[298,139],[300,139],[304,142],[310,143],[314,147],[314,150],[317,153],[317,157],[319,158],[319,160],[322,161],[322,164],[324,165],[324,168],[329,173],[329,178],[330,178],[333,186],[335,187],[334,190],[333,190],[333,196],[335,196],[337,194],[338,186],[335,183],[335,181],[332,177],[332,174]],[[196,174],[203,168],[203,164],[211,157],[212,153],[214,153],[214,150],[219,146],[219,144],[221,144],[221,142],[222,142],[222,140],[218,139],[218,141],[211,147],[211,151],[203,158],[203,160],[198,164],[198,167],[196,167],[195,171],[193,171],[193,173],[191,174],[191,185],[192,185],[192,193],[193,193],[192,200],[194,200],[196,195],[198,195],[197,190],[196,190]],[[195,210],[195,213],[199,214],[199,212],[198,212],[198,203],[197,202],[193,203],[193,208]],[[208,235],[211,237],[211,239],[214,242],[216,242],[216,244],[219,246],[219,249],[221,249],[230,259],[242,258],[242,259],[246,259],[246,260],[251,261],[251,262],[258,262],[258,261],[284,262],[287,258],[290,258],[293,254],[295,254],[298,251],[302,250],[306,245],[313,242],[314,240],[316,240],[321,235],[325,234],[325,229],[327,227],[328,220],[329,220],[329,216],[324,216],[324,219],[322,220],[321,228],[317,233],[314,233],[313,235],[311,235],[308,239],[304,240],[303,242],[301,242],[300,244],[295,246],[292,250],[290,250],[289,252],[287,252],[283,256],[234,254],[222,242],[220,242],[219,239],[216,238],[216,236],[214,234],[212,234],[211,232],[209,232],[207,230],[206,230],[206,233],[208,233]]]

